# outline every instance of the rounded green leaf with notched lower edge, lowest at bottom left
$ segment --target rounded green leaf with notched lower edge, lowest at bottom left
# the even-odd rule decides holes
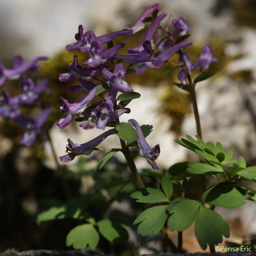
[[[95,248],[99,242],[99,234],[92,224],[78,225],[69,231],[66,245],[74,249],[84,249],[87,246]]]

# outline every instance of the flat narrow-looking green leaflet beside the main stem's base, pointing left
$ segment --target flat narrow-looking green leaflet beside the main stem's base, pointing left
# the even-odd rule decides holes
[[[168,198],[162,193],[162,191],[152,188],[152,187],[146,187],[142,188],[138,191],[135,191],[131,198],[137,199],[137,203],[164,203],[169,202]]]

